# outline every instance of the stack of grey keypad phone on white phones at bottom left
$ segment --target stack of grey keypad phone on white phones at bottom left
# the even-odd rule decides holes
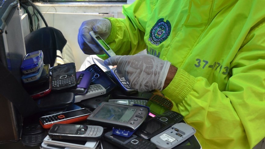
[[[78,124],[54,124],[44,138],[41,147],[65,147],[72,149],[102,148],[100,139],[103,127]]]

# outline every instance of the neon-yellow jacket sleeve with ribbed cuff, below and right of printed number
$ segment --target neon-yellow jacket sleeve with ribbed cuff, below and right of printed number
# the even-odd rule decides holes
[[[203,146],[253,148],[265,137],[264,34],[264,22],[248,34],[230,63],[231,77],[225,91],[181,68],[162,90],[197,130]]]

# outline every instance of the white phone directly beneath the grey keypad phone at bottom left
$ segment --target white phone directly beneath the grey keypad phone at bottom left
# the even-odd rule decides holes
[[[43,142],[44,144],[68,147],[72,149],[96,149],[100,141],[59,140],[59,139],[51,139],[51,137],[47,135],[44,138]]]

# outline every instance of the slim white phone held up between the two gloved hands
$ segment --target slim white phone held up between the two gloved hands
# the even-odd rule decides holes
[[[94,31],[89,32],[94,41],[104,50],[108,57],[115,56],[116,54],[111,50],[107,43]]]

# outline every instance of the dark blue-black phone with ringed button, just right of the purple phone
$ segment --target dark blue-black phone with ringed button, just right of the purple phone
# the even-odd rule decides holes
[[[89,71],[93,74],[91,84],[100,84],[106,89],[106,94],[112,92],[114,88],[116,88],[116,84],[108,75],[97,65],[92,64],[85,69],[85,71]]]

